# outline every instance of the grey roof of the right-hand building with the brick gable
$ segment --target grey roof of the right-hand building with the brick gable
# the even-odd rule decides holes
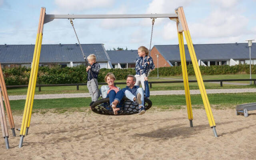
[[[256,45],[251,47],[251,58],[256,58]],[[176,45],[155,45],[160,54],[168,61],[180,62],[180,49]],[[191,60],[188,46],[184,45],[186,60]],[[255,48],[255,49],[254,49]],[[198,60],[244,60],[249,59],[248,43],[234,44],[194,44],[196,58]]]

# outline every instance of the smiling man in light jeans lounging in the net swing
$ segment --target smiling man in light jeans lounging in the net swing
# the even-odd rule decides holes
[[[116,93],[114,102],[112,102],[111,107],[113,108],[115,115],[118,114],[118,110],[120,110],[120,108],[116,108],[116,105],[120,103],[124,95],[132,102],[138,103],[139,114],[144,114],[146,112],[144,107],[144,90],[139,86],[134,86],[135,83],[135,76],[129,74],[126,79],[126,88],[123,88],[122,90],[118,91]]]

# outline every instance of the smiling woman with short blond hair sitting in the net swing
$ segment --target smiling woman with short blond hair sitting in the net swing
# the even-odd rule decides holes
[[[105,82],[107,82],[108,85],[103,85],[100,88],[102,98],[109,98],[110,106],[112,106],[112,102],[115,99],[116,93],[120,90],[119,87],[114,85],[115,80],[116,77],[114,76],[114,74],[109,72],[105,76]],[[114,113],[117,113],[118,110],[119,108],[113,108]]]

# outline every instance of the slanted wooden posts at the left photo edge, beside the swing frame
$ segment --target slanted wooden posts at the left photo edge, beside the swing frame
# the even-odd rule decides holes
[[[10,102],[9,102],[9,98],[7,95],[7,90],[6,90],[6,85],[4,82],[4,74],[2,71],[2,67],[0,64],[0,87],[1,87],[1,91],[0,91],[0,122],[1,122],[1,128],[2,128],[2,134],[5,140],[5,144],[6,144],[6,149],[9,149],[9,142],[8,142],[8,129],[7,129],[7,123],[6,123],[6,118],[5,118],[5,113],[4,113],[4,104],[5,104],[5,108],[6,108],[6,113],[10,122],[10,128],[12,130],[12,135],[15,137],[15,126],[14,126],[14,120],[12,117],[12,111],[10,108]],[[4,97],[4,103],[3,103],[3,99],[2,99],[2,94]]]

